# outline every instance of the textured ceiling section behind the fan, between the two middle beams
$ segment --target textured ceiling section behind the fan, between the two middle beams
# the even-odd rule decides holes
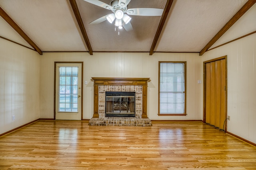
[[[111,10],[95,6],[84,0],[76,0],[93,51],[149,51],[161,16],[131,16],[132,31],[122,29],[118,35],[114,23],[104,21],[89,25]],[[110,4],[110,0],[102,0]],[[129,8],[164,8],[166,0],[131,0]]]

